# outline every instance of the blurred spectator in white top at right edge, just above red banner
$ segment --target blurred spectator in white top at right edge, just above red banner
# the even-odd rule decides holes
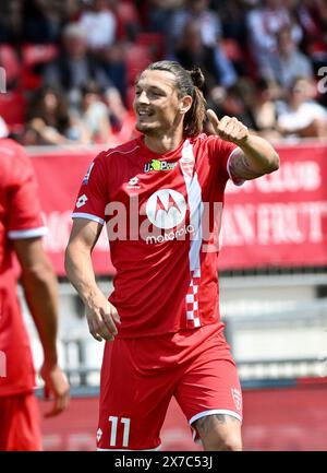
[[[327,111],[315,99],[315,86],[305,78],[294,80],[277,129],[283,137],[327,138]]]

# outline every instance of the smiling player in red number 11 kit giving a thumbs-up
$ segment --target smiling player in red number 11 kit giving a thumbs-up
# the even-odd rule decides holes
[[[203,82],[199,69],[174,61],[148,66],[134,100],[142,135],[100,153],[78,193],[65,268],[92,335],[108,342],[98,450],[157,449],[173,395],[205,450],[242,449],[241,388],[219,316],[215,203],[229,178],[271,173],[279,157],[213,110],[215,133],[202,133]],[[92,265],[105,223],[117,270],[109,300]]]

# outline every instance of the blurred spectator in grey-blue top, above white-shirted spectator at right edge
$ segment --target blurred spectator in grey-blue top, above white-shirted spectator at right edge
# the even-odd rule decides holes
[[[289,26],[283,26],[277,33],[277,50],[269,55],[264,75],[275,80],[284,88],[289,88],[294,79],[300,75],[313,79],[312,63],[299,50]]]

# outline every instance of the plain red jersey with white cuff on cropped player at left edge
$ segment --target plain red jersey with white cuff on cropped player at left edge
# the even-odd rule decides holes
[[[0,395],[29,391],[35,371],[22,319],[12,240],[46,233],[31,159],[12,140],[0,140]]]

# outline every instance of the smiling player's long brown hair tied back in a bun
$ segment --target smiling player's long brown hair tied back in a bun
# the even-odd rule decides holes
[[[158,61],[149,64],[146,70],[171,72],[175,78],[179,97],[191,95],[193,102],[184,117],[183,134],[184,137],[199,134],[206,116],[206,100],[202,93],[205,79],[201,69],[195,67],[186,71],[177,61]]]

